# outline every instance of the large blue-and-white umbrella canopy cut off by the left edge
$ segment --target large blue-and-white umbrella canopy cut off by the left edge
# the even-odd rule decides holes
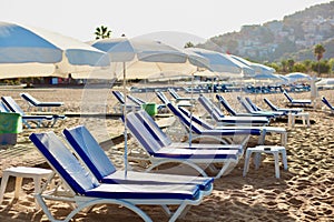
[[[0,79],[67,77],[108,67],[106,53],[43,29],[0,22]]]

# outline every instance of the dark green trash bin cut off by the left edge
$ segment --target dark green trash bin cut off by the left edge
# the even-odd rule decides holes
[[[17,144],[20,132],[22,132],[22,117],[14,112],[0,112],[0,144]]]

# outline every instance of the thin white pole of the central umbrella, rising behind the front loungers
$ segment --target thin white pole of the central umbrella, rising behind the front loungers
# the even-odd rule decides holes
[[[124,164],[125,164],[125,179],[128,176],[128,130],[127,130],[127,81],[126,81],[126,63],[122,62],[122,93],[124,93],[124,105],[122,105],[122,117],[124,117]]]

